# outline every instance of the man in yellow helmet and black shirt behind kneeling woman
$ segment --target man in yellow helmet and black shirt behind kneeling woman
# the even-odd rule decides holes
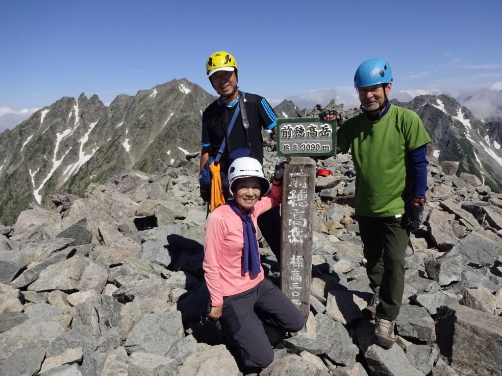
[[[271,105],[259,95],[239,90],[237,62],[228,52],[217,51],[211,54],[206,61],[206,74],[219,97],[202,114],[200,170],[202,171],[210,157],[217,157],[218,151],[220,151],[220,171],[225,175],[231,162],[237,157],[250,156],[263,164],[262,129],[276,133],[277,115]],[[243,113],[247,120],[244,122],[242,121]],[[234,115],[235,119],[232,122]],[[225,143],[221,147],[223,142]],[[228,195],[228,186],[223,184],[225,200]],[[258,218],[258,226],[279,260],[280,216],[278,208],[262,214]]]

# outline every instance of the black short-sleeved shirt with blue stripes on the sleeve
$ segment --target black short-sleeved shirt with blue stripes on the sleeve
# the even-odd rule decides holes
[[[242,117],[239,114],[235,119],[232,131],[230,133],[230,148],[228,148],[228,141],[225,144],[225,150],[221,155],[221,168],[226,172],[228,169],[228,155],[232,150],[249,147],[253,150],[253,156],[263,163],[263,129],[273,129],[276,126],[277,115],[270,106],[267,100],[256,94],[243,93],[244,103],[247,112],[247,121],[249,122],[248,134],[249,140],[246,138],[246,132],[242,126]],[[223,129],[223,111],[226,111],[228,116],[228,123],[231,122],[233,113],[235,112],[238,98],[229,104],[222,104],[219,99],[211,103],[202,114],[202,137],[201,146],[212,146],[213,155],[216,157],[221,142],[225,137],[225,130]]]

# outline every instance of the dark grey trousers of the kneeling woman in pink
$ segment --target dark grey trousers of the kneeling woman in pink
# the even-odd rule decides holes
[[[305,319],[293,302],[268,279],[252,289],[223,297],[223,330],[239,349],[246,367],[265,368],[274,360],[264,322],[285,332],[297,332],[303,328]]]

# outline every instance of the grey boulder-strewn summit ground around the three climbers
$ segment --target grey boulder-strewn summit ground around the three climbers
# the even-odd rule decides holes
[[[269,148],[268,148],[269,149]],[[272,146],[270,146],[272,149]],[[188,157],[188,156],[187,156]],[[398,344],[372,343],[372,294],[349,155],[319,161],[311,309],[262,376],[497,375],[502,369],[502,195],[431,155],[423,226],[406,251]],[[265,152],[273,173],[274,153]],[[0,374],[240,376],[207,304],[198,160],[126,170],[84,197],[54,194],[0,227]],[[277,260],[260,237],[265,273]],[[475,344],[475,345],[474,345]]]

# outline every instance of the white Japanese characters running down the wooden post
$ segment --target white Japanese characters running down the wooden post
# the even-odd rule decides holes
[[[290,219],[287,223],[289,243],[303,243],[307,237],[307,178],[308,173],[300,170],[289,174],[289,195],[287,205],[289,207]],[[292,255],[290,259],[290,289],[291,301],[296,305],[301,305],[299,298],[302,290],[302,275],[304,274],[303,255]]]

